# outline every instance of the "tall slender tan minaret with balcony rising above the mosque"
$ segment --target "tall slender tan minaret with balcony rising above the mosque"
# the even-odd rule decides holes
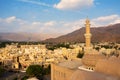
[[[91,33],[90,33],[90,21],[87,18],[85,21],[85,28],[86,28],[86,33],[84,34],[85,36],[85,50],[90,50],[91,49]],[[85,51],[86,52],[86,51]]]

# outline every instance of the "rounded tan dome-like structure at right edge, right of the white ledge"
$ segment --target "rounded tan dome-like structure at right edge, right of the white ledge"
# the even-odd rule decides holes
[[[120,77],[120,59],[111,57],[109,59],[99,60],[96,64],[95,71]]]

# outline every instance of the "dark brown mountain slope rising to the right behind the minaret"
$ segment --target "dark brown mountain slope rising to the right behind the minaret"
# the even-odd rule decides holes
[[[84,33],[85,27],[57,38],[46,39],[43,42],[84,42]],[[109,26],[91,28],[91,33],[92,42],[120,42],[120,23]]]

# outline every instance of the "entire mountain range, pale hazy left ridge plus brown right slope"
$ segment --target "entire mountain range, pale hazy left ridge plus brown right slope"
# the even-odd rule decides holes
[[[66,35],[56,37],[56,34],[41,33],[0,33],[0,41],[42,41],[42,42],[85,42],[85,27]],[[120,23],[91,28],[92,42],[120,42]],[[60,34],[59,34],[60,35]],[[47,39],[48,38],[48,39]]]

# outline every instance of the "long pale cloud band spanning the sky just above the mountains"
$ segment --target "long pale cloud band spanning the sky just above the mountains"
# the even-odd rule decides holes
[[[120,15],[100,16],[90,19],[91,27],[101,27],[120,23]],[[67,34],[85,27],[85,18],[76,21],[25,21],[11,16],[0,18],[0,32],[35,32],[51,34]]]

